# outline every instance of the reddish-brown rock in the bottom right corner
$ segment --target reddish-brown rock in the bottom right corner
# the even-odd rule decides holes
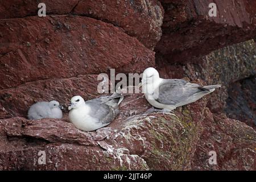
[[[204,131],[200,137],[192,169],[255,170],[256,131],[240,121],[223,115],[205,113]],[[210,151],[217,154],[217,165],[208,162]]]

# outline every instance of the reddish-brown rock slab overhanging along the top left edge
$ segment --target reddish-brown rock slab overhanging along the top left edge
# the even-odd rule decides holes
[[[156,0],[135,1],[43,1],[46,15],[81,15],[100,19],[125,30],[147,48],[154,49],[162,35],[163,7]],[[34,0],[0,2],[0,19],[37,16]],[[39,17],[36,17],[39,18]],[[40,18],[39,18],[40,19]]]

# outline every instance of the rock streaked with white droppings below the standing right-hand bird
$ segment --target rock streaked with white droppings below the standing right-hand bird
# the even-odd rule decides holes
[[[180,107],[174,115],[135,115],[107,142],[129,149],[146,160],[153,170],[191,169],[190,161],[200,135],[205,100]]]

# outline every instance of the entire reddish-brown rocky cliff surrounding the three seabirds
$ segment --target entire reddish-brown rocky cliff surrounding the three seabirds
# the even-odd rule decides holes
[[[256,2],[215,0],[0,2],[0,170],[256,170]],[[107,127],[29,121],[28,108],[89,100],[98,74],[142,73],[222,84],[174,114],[129,94]],[[217,154],[210,164],[209,152]],[[42,163],[42,156],[46,156]]]

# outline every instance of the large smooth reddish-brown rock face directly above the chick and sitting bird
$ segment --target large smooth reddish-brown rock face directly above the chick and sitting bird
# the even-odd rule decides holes
[[[0,89],[48,78],[98,74],[110,68],[142,72],[154,65],[154,52],[100,20],[32,16],[5,19],[0,26]]]

